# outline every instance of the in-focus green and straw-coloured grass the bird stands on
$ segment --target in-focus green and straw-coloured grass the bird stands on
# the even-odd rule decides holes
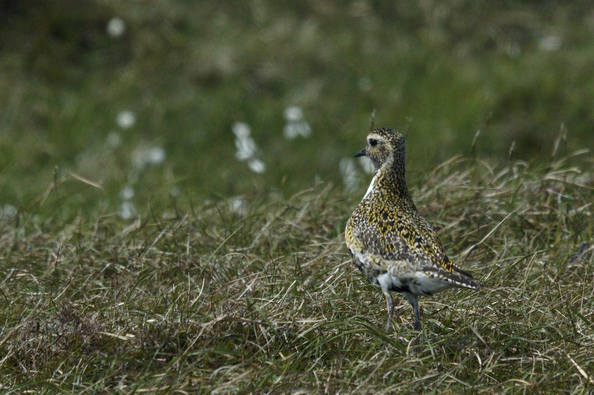
[[[413,180],[488,287],[422,298],[420,333],[406,301],[384,332],[343,241],[358,197],[335,187],[135,221],[20,212],[0,225],[0,393],[590,393],[593,164],[456,157]]]

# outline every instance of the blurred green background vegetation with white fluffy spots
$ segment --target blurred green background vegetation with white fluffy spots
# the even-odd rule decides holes
[[[561,125],[594,143],[593,70],[589,1],[0,0],[0,204],[62,179],[42,212],[364,189],[343,158],[374,109],[409,178],[479,129],[485,160],[548,160]]]

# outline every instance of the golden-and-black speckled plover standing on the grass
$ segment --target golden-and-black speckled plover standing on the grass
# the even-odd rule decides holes
[[[346,245],[355,266],[386,295],[386,331],[394,314],[393,291],[402,292],[410,302],[413,329],[420,330],[419,297],[484,285],[451,262],[437,232],[416,209],[406,186],[404,136],[381,127],[372,130],[366,142],[354,156],[371,159],[375,172],[346,222]]]

